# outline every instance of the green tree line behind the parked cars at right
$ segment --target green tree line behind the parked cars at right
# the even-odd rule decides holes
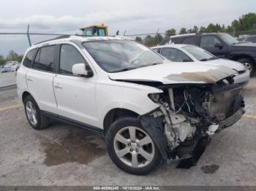
[[[233,20],[229,26],[210,23],[207,27],[194,26],[193,28],[181,28],[178,32],[175,28],[170,28],[165,31],[165,34],[156,34],[155,36],[147,35],[144,39],[140,36],[136,36],[135,40],[146,44],[148,47],[153,47],[162,42],[162,39],[173,36],[176,34],[192,34],[192,33],[217,33],[225,32],[238,36],[240,34],[256,34],[256,14],[249,12],[246,15],[242,15],[238,20]]]

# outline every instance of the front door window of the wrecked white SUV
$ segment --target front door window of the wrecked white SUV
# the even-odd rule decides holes
[[[69,44],[61,45],[61,55],[59,59],[59,73],[72,74],[72,66],[76,63],[86,63],[80,52]]]

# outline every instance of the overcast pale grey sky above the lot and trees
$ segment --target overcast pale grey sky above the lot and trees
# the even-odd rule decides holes
[[[0,33],[31,32],[79,34],[79,28],[104,23],[109,34],[165,32],[169,28],[230,25],[248,12],[255,0],[0,0]],[[32,44],[54,36],[31,36]],[[26,36],[0,35],[0,55],[23,54]]]

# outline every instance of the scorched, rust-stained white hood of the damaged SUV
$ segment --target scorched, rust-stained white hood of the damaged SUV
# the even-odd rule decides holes
[[[214,84],[220,79],[238,74],[226,66],[202,62],[162,63],[130,71],[110,73],[110,79],[139,82],[162,82],[163,84]]]

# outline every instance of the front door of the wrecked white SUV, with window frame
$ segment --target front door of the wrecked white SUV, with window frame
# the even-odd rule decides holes
[[[73,76],[72,66],[75,63],[85,63],[86,68],[89,68],[83,52],[75,44],[60,44],[58,52],[59,74],[53,80],[58,114],[97,126],[96,75],[90,78]]]

